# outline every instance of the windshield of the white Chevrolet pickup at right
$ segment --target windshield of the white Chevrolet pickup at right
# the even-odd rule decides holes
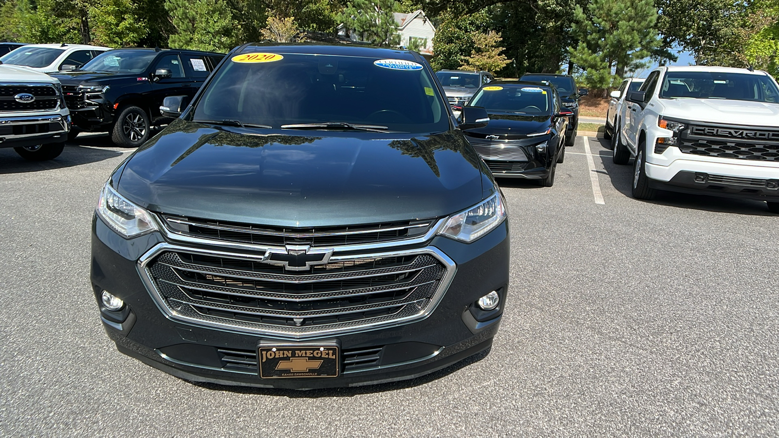
[[[777,103],[779,90],[768,76],[745,73],[667,72],[660,97],[730,99]]]

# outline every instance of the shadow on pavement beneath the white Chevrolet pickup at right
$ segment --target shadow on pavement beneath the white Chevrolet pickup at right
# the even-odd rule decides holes
[[[612,161],[612,151],[606,148],[608,140],[597,139],[601,143],[602,149],[593,150],[601,158],[601,163],[606,172],[599,172],[601,175],[608,175],[611,178],[615,189],[628,198],[633,198],[633,160],[628,165],[614,164]],[[595,145],[593,145],[595,146]],[[604,181],[604,178],[601,178]],[[668,191],[658,191],[654,200],[640,201],[666,205],[668,207],[693,208],[695,210],[716,211],[719,213],[746,214],[750,216],[776,216],[768,211],[768,206],[763,201],[758,200],[739,200],[735,198],[724,198],[710,195],[693,195],[689,193],[676,193]]]

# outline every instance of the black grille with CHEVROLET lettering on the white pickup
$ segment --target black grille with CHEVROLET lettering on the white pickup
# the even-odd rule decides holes
[[[749,126],[690,126],[682,131],[683,154],[738,160],[779,161],[779,132]]]

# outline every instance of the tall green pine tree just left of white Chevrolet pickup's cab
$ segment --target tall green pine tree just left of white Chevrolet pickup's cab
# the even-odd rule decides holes
[[[592,0],[586,9],[577,5],[575,14],[579,44],[570,56],[590,88],[613,87],[626,71],[645,67],[643,60],[661,43],[652,0]]]

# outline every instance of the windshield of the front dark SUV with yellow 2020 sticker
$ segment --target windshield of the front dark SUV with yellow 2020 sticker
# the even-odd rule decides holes
[[[244,60],[261,55],[273,61]],[[331,122],[399,132],[449,130],[448,108],[428,70],[416,62],[242,54],[227,60],[215,74],[196,104],[195,122],[228,120],[275,129]]]

